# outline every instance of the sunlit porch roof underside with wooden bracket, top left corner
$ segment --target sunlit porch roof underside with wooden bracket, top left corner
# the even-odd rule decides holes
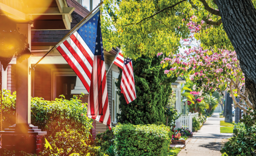
[[[32,30],[70,30],[73,11],[66,0],[0,0],[0,15],[30,23]]]

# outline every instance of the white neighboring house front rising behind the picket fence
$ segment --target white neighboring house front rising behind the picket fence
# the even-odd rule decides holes
[[[171,83],[171,88],[175,90],[176,93],[176,103],[175,108],[178,111],[178,113],[184,112],[184,103],[182,102],[182,96],[181,96],[181,89],[182,84],[186,83],[186,81],[182,77],[178,77],[177,80],[174,83]]]

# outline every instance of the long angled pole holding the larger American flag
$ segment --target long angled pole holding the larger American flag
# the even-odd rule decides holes
[[[85,20],[86,20],[97,8],[99,8],[99,6],[100,6],[101,4],[103,4],[102,1],[101,1],[101,2],[98,4],[98,6],[96,6],[91,12],[89,12],[88,15],[87,15],[84,19],[82,19],[77,25],[75,25],[75,26],[73,27],[73,29],[72,29],[68,34],[66,34],[66,36],[64,36],[64,37],[58,42],[58,44],[56,44],[55,46],[53,46],[53,47],[50,49],[50,51],[48,51],[39,61],[36,62],[36,64],[32,65],[32,67],[30,68],[30,71],[31,71],[31,69],[33,69],[34,67],[36,67],[36,66],[38,65],[38,63],[39,63],[41,60],[43,60],[47,54],[51,53],[51,52],[53,51],[53,49],[56,48],[56,47],[60,44],[60,42],[62,42],[63,40],[65,40],[67,37],[69,37],[74,31],[77,31],[78,27],[80,27],[80,25],[84,24]]]

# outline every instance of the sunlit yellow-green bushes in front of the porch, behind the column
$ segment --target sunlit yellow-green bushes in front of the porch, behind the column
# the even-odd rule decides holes
[[[12,125],[8,119],[15,115],[16,94],[9,90],[3,91],[3,122]],[[10,111],[10,114],[7,112]],[[103,155],[100,147],[92,147],[90,130],[92,119],[86,116],[87,107],[80,97],[71,100],[56,98],[46,101],[43,98],[31,98],[31,123],[42,131],[47,131],[46,139],[51,148],[46,148],[40,155]],[[8,123],[8,124],[7,124]],[[3,151],[3,150],[2,150]],[[6,153],[6,152],[5,152]]]

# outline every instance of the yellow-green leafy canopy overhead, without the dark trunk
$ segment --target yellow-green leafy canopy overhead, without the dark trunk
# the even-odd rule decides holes
[[[135,59],[158,52],[169,55],[178,53],[181,39],[187,38],[200,40],[204,48],[233,50],[217,16],[217,5],[212,1],[206,4],[213,13],[205,9],[204,0],[107,0],[104,4],[104,11],[109,15],[102,20],[107,50],[121,46],[125,55]],[[195,27],[192,34],[187,26],[191,19],[191,26]],[[197,31],[197,27],[203,29]]]

